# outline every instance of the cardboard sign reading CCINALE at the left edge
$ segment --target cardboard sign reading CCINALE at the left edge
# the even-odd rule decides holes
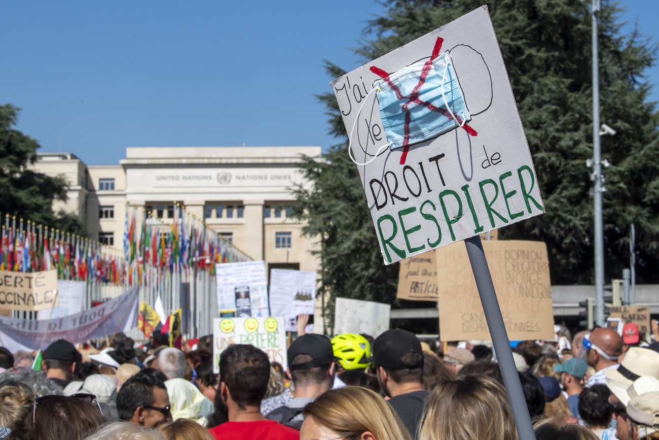
[[[53,306],[57,306],[57,270],[0,270],[0,309],[36,311]]]

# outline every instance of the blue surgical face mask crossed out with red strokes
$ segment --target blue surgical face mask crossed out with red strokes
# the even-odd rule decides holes
[[[471,115],[448,53],[418,61],[374,83],[389,148],[433,139],[466,126]]]

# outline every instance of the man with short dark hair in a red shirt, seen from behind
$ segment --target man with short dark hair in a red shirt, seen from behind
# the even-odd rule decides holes
[[[209,429],[216,440],[298,440],[300,432],[266,419],[260,411],[270,379],[270,361],[258,348],[235,344],[219,358],[219,393],[229,422]]]

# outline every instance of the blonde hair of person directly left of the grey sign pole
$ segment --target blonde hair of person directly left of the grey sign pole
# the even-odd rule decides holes
[[[503,387],[483,375],[440,382],[426,399],[423,420],[420,440],[517,440]]]

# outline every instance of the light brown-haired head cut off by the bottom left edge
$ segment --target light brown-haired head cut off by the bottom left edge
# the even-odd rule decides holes
[[[32,405],[36,394],[20,381],[0,384],[0,426],[32,438]],[[9,437],[10,439],[18,437]]]

